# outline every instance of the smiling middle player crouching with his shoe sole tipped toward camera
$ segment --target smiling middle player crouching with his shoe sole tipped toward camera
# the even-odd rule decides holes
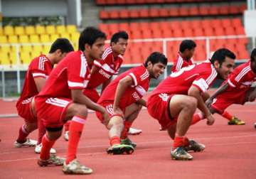
[[[102,114],[96,112],[97,117],[109,129],[110,148],[107,153],[132,153],[134,146],[131,141],[121,143],[120,139],[127,139],[124,125],[137,118],[142,106],[146,102],[142,99],[149,88],[151,78],[157,79],[164,72],[167,58],[161,53],[151,53],[144,65],[133,67],[115,78],[102,93],[98,104],[107,109],[109,120],[104,120]]]

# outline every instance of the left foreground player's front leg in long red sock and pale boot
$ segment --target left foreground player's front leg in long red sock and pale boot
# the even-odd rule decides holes
[[[72,103],[68,106],[64,120],[70,120],[68,152],[63,172],[66,174],[90,174],[91,168],[80,164],[76,159],[78,143],[82,135],[82,129],[87,119],[87,107],[82,104]]]

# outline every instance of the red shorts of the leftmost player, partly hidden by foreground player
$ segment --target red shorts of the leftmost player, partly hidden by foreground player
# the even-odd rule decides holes
[[[33,97],[30,97],[16,104],[18,115],[21,116],[28,123],[34,123],[37,121],[36,116],[33,115],[31,109],[32,99]]]

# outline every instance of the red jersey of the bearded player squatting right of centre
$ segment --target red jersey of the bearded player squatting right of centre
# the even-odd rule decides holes
[[[193,85],[201,92],[212,85],[217,77],[217,72],[209,60],[203,63],[183,67],[178,72],[171,73],[152,92],[155,94],[188,94],[188,89]]]

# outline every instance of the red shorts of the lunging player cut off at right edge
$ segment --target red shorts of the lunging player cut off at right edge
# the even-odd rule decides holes
[[[223,114],[231,104],[245,104],[247,90],[234,90],[233,92],[223,92],[213,99],[211,107]]]

